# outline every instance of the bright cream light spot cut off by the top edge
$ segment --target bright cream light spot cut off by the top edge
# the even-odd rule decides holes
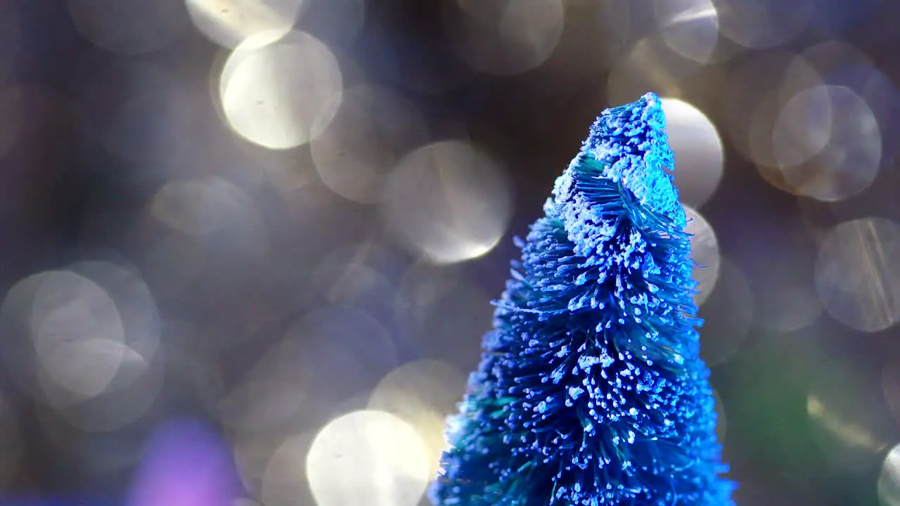
[[[236,48],[261,33],[290,32],[304,0],[185,0],[194,26],[211,41]]]

